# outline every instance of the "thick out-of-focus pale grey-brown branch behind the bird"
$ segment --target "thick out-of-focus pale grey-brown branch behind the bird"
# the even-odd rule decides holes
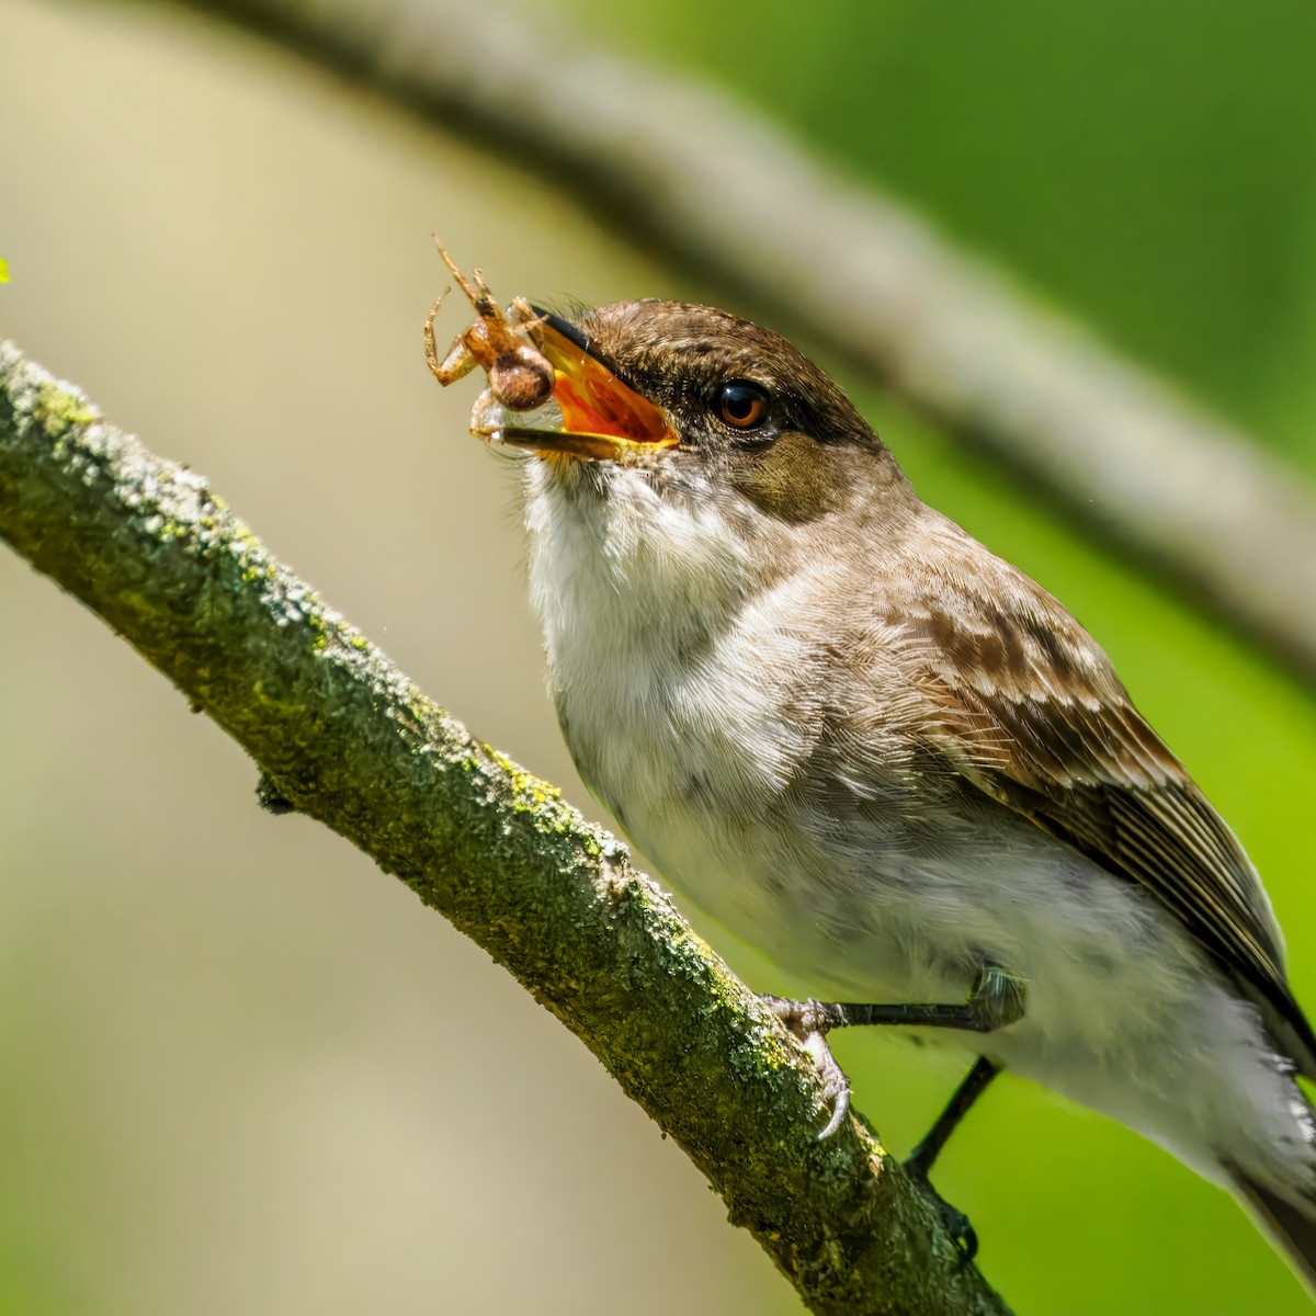
[[[209,7],[572,180],[622,230],[984,446],[1316,687],[1303,474],[726,95],[507,4]]]

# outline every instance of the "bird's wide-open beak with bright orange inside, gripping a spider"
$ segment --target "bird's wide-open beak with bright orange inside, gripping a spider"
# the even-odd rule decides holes
[[[533,333],[553,366],[553,396],[534,411],[515,412],[486,391],[475,404],[471,433],[541,454],[595,461],[657,453],[679,442],[667,416],[595,357],[575,325],[534,309],[544,316]]]

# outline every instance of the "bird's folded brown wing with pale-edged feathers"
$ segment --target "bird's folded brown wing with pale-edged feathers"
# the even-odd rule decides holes
[[[944,715],[942,754],[994,799],[1141,883],[1249,990],[1302,1069],[1316,1069],[1316,1037],[1238,841],[1087,632],[1040,586],[990,562],[986,580],[959,576],[899,605],[924,694]]]

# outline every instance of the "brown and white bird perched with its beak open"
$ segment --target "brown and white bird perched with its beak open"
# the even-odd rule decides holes
[[[801,1037],[871,1020],[965,1053],[909,1162],[929,1190],[1011,1071],[1232,1192],[1313,1290],[1316,1036],[1255,869],[1096,641],[780,334],[657,299],[533,313],[551,396],[495,387],[475,428],[530,457],[530,596],[587,787],[808,986],[771,998]]]

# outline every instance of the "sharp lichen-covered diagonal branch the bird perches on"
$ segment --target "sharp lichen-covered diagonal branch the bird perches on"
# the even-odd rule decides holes
[[[820,1142],[820,1075],[558,791],[474,741],[205,479],[0,343],[0,538],[259,765],[478,941],[684,1149],[812,1311],[992,1316],[871,1130]]]

